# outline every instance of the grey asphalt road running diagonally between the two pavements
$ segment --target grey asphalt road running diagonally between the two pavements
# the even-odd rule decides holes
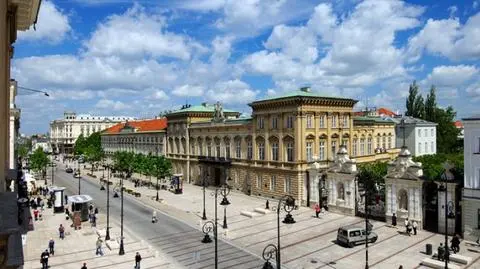
[[[49,178],[51,178],[50,175]],[[78,194],[78,179],[73,178],[72,174],[65,173],[62,165],[57,166],[55,171],[55,185],[66,187],[67,195]],[[81,193],[90,195],[99,210],[106,213],[106,191],[101,191],[98,185],[82,179]],[[120,199],[113,198],[112,189],[110,189],[110,195],[110,221],[113,220],[114,223],[119,224]],[[187,268],[215,268],[214,243],[203,244],[201,231],[158,211],[158,222],[151,223],[152,209],[137,202],[130,195],[124,196],[123,207],[124,227],[127,227],[126,229],[135,236],[147,241]],[[128,245],[125,247],[125,252],[129,253]],[[263,260],[259,257],[218,240],[218,268],[253,269],[261,268],[262,265]]]

